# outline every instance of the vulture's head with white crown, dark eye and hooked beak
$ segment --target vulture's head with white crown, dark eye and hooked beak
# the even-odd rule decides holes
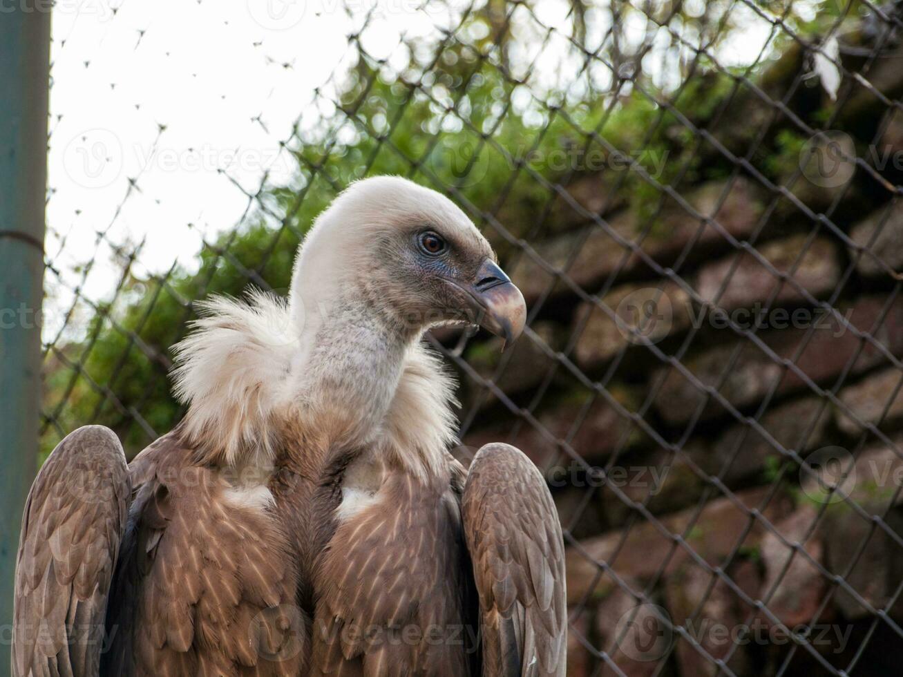
[[[358,181],[312,228],[295,263],[293,315],[359,306],[361,320],[419,336],[479,324],[506,342],[524,329],[524,297],[489,242],[450,199],[400,177]],[[360,301],[364,301],[363,304]],[[314,320],[316,329],[321,321]]]

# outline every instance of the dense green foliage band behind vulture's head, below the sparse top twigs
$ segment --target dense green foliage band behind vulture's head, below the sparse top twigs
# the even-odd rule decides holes
[[[484,36],[478,46],[489,40],[488,30],[474,34]],[[414,81],[421,84],[407,84]],[[719,76],[694,79],[674,109],[704,122],[729,84]],[[197,270],[177,267],[163,278],[130,274],[84,335],[51,350],[45,411],[59,427],[48,426],[43,454],[60,433],[88,422],[113,428],[130,454],[154,432],[171,429],[181,409],[167,373],[173,343],[189,330],[192,303],[213,293],[240,296],[249,283],[284,292],[305,230],[351,181],[400,174],[445,190],[499,245],[488,220],[513,236],[544,235],[537,215],[554,199],[546,182],[602,172],[619,186],[628,209],[642,214],[656,204],[655,182],[671,181],[694,162],[682,155],[690,140],[684,125],[656,103],[663,92],[647,87],[619,97],[590,90],[576,101],[554,92],[539,98],[498,63],[460,45],[428,70],[413,56],[401,72],[361,58],[341,91],[330,115],[297,130],[289,147],[296,179],[265,190],[255,214],[203,246]],[[618,153],[627,160],[612,162]]]

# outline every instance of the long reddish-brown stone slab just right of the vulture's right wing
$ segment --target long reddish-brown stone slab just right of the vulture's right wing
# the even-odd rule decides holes
[[[774,524],[789,514],[791,505],[785,496],[778,495],[761,508],[769,491],[769,487],[756,487],[740,491],[736,496],[749,509],[759,507]],[[726,497],[710,501],[698,519],[694,520],[695,516],[696,509],[692,507],[659,521],[668,532],[684,534],[689,547],[710,562],[721,562],[735,548],[754,548],[765,531],[761,522],[755,520],[747,533],[750,523],[747,511]],[[694,521],[692,527],[691,521]],[[565,558],[567,594],[574,604],[579,604],[584,597],[604,596],[610,591],[613,581],[609,576],[598,575],[598,561],[607,562],[619,576],[632,576],[645,582],[662,567],[669,575],[691,560],[686,548],[675,547],[671,538],[646,521],[634,524],[626,533],[616,530],[581,541],[581,548],[568,548]]]

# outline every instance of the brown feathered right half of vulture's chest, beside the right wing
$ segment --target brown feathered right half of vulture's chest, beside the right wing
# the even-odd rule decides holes
[[[475,624],[457,496],[447,481],[403,473],[380,496],[340,524],[318,562],[312,674],[470,674]]]

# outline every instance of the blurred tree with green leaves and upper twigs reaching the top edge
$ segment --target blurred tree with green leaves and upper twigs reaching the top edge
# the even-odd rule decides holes
[[[555,199],[547,182],[566,185],[586,172],[615,172],[607,162],[611,148],[639,166],[667,157],[657,176],[661,183],[678,171],[681,181],[696,180],[698,159],[683,154],[688,130],[658,102],[670,99],[682,115],[704,125],[731,96],[728,75],[711,65],[691,70],[673,59],[689,50],[675,34],[684,41],[695,36],[701,44],[723,42],[730,33],[724,14],[730,5],[570,2],[572,40],[554,54],[562,64],[554,77],[524,63],[515,68],[515,51],[518,58],[544,52],[538,42],[517,42],[523,40],[518,33],[538,30],[533,14],[522,12],[520,24],[512,26],[517,8],[503,0],[481,5],[448,44],[406,42],[410,56],[401,69],[371,58],[358,43],[360,57],[339,94],[332,100],[321,92],[331,114],[299,125],[286,146],[297,161],[289,185],[265,186],[256,213],[203,246],[196,271],[175,267],[163,276],[127,275],[115,300],[98,307],[83,334],[51,348],[43,452],[88,422],[113,428],[129,453],[154,431],[171,429],[181,415],[167,376],[171,347],[189,329],[192,302],[211,293],[238,296],[248,284],[284,293],[304,232],[351,181],[401,174],[445,190],[504,255],[505,238],[485,217],[492,215],[515,238],[553,232],[554,223],[537,223]],[[628,31],[630,25],[645,28]],[[656,35],[666,35],[665,42],[656,42]],[[643,72],[650,62],[644,55],[653,46],[659,57],[683,64],[681,72]],[[631,61],[629,74],[619,71]],[[610,88],[599,86],[593,67],[600,62],[616,69],[608,70]],[[657,189],[639,172],[625,176],[622,169],[617,179],[627,209],[653,204]],[[710,163],[707,171],[717,167]]]

